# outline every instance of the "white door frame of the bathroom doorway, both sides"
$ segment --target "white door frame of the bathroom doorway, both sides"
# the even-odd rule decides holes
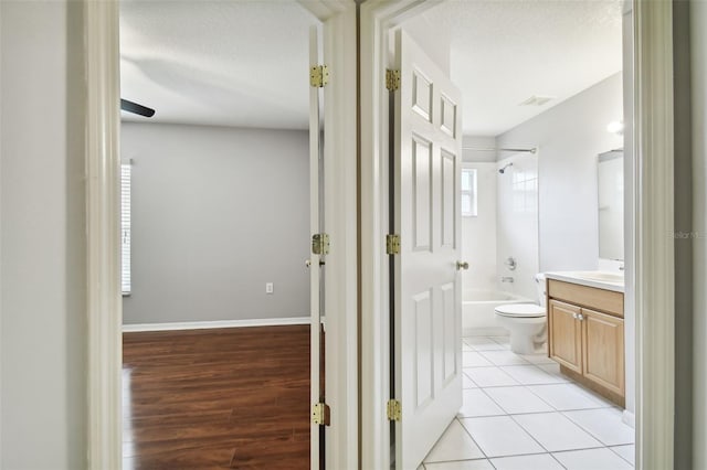
[[[361,466],[390,468],[388,92],[390,31],[439,1],[361,6]],[[669,0],[634,0],[636,468],[673,467],[673,25]],[[473,260],[472,260],[473,261]],[[632,266],[627,266],[631,269]],[[627,289],[629,290],[629,289]]]

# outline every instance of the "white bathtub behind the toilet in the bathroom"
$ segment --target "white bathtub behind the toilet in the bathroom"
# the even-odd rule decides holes
[[[462,298],[462,329],[465,337],[503,335],[494,309],[504,303],[536,303],[531,299],[496,290],[465,290]]]

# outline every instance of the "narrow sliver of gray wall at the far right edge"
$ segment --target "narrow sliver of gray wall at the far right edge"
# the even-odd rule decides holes
[[[690,2],[693,87],[693,468],[707,468],[707,2]],[[678,338],[677,341],[680,339]]]

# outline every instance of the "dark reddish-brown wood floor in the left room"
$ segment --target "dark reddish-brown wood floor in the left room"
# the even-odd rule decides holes
[[[125,333],[123,468],[309,468],[309,327]]]

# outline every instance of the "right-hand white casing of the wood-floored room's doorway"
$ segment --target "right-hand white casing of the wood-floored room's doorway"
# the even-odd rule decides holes
[[[326,2],[325,2],[326,3]],[[329,3],[330,4],[330,3]],[[358,464],[358,266],[357,266],[357,71],[356,3],[324,22],[324,231],[331,238],[326,257],[326,467]]]

